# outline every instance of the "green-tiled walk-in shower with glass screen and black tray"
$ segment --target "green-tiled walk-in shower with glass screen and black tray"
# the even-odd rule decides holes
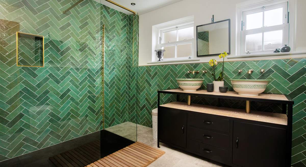
[[[0,166],[84,166],[137,140],[138,15],[97,0],[0,8]]]

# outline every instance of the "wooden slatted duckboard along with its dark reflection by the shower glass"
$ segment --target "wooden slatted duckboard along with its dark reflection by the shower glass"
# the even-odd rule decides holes
[[[99,148],[97,147],[99,147],[98,141],[66,151],[49,159],[56,167],[145,167],[165,154],[165,151],[136,142],[99,159],[96,158],[99,156]],[[80,151],[82,154],[80,154]]]

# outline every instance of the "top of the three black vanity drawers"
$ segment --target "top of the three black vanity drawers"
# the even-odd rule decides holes
[[[230,120],[189,114],[189,126],[200,129],[213,129],[221,132],[230,132]]]

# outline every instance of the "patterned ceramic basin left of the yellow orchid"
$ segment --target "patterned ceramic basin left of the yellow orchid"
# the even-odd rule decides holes
[[[202,84],[203,80],[205,79],[175,79],[178,83],[178,86],[183,89],[183,91],[187,92],[194,92],[199,89]]]

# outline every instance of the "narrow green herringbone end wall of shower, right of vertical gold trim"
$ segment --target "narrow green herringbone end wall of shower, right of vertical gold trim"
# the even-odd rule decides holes
[[[104,126],[108,128],[130,119],[135,120],[136,117],[136,109],[129,109],[129,98],[131,98],[129,86],[136,83],[136,76],[130,72],[130,69],[132,25],[137,21],[134,17],[138,16],[126,15],[106,6],[103,7],[105,9],[101,11],[103,13],[101,21],[105,24]]]

